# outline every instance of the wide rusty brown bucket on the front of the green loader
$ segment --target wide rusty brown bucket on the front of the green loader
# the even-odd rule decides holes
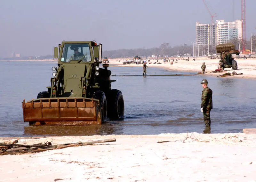
[[[39,98],[22,102],[24,122],[30,125],[101,124],[99,100],[92,98]]]

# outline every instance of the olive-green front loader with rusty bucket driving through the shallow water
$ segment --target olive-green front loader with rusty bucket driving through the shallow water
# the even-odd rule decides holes
[[[24,122],[30,125],[88,125],[124,118],[122,92],[111,89],[111,71],[101,63],[102,44],[62,41],[53,48],[51,86],[36,99],[22,102]]]

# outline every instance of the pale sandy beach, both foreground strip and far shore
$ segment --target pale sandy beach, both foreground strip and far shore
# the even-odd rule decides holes
[[[148,69],[201,72],[205,62],[205,76],[233,71],[230,68],[222,73],[210,73],[217,69],[218,59],[178,60],[173,65],[159,61],[162,64],[147,64]],[[238,70],[235,71],[243,75],[228,77],[256,78],[255,59],[236,61]],[[142,70],[142,64],[123,65],[122,60],[111,59],[109,64],[138,66]],[[0,142],[17,139],[18,144],[47,141],[62,144],[108,138],[116,138],[116,142],[0,156],[0,181],[256,181],[256,134],[2,137]]]

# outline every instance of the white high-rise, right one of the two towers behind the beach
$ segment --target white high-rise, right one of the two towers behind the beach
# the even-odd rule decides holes
[[[217,25],[217,43],[224,44],[228,40],[242,38],[242,21],[224,22],[224,20],[216,20]]]

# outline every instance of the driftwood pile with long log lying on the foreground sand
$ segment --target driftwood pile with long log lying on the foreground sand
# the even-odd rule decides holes
[[[35,152],[42,152],[46,150],[63,149],[67,147],[83,146],[83,145],[92,145],[94,143],[103,143],[103,142],[116,142],[116,139],[111,138],[111,139],[95,140],[91,142],[63,143],[63,144],[57,144],[57,145],[52,145],[51,142],[46,142],[44,144],[38,143],[33,145],[12,144],[12,148],[10,148],[9,146],[0,146],[0,149],[2,149],[2,151],[0,151],[0,155],[24,154],[28,152],[35,153]]]

